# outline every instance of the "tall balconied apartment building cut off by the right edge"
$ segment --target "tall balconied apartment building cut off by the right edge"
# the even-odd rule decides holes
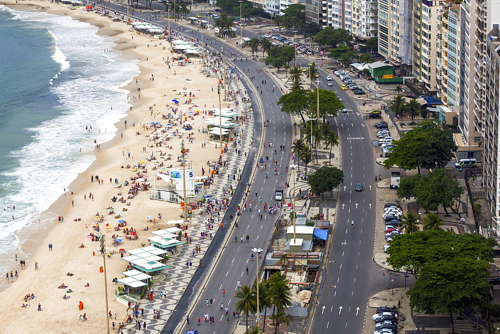
[[[496,21],[500,19],[495,18]],[[500,33],[492,24],[484,42],[483,100],[483,186],[492,215],[492,227],[500,230]]]

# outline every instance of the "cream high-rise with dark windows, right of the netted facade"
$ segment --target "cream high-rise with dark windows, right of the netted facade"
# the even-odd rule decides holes
[[[437,89],[437,14],[442,11],[442,1],[413,1],[413,76],[420,89],[435,92]]]

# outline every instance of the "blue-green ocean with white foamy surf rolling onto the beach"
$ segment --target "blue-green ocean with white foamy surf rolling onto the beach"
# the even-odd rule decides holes
[[[96,32],[67,16],[0,6],[0,272],[14,253],[26,257],[23,227],[57,218],[41,212],[92,163],[94,140],[110,140],[129,108],[118,87],[139,73],[137,59],[104,52],[115,39]]]

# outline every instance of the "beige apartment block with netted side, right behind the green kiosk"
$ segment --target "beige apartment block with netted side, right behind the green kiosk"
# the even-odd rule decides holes
[[[412,64],[412,0],[378,0],[378,53],[396,72],[408,75]]]

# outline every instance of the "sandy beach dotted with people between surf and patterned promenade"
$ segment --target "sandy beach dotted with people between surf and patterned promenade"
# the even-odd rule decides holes
[[[210,167],[206,162],[218,160],[220,147],[215,142],[210,142],[209,134],[201,130],[206,128],[205,118],[211,117],[206,111],[218,107],[218,79],[207,77],[200,72],[201,64],[198,58],[193,58],[193,61],[185,66],[166,63],[172,56],[168,49],[163,49],[163,46],[169,46],[168,42],[152,40],[150,36],[131,32],[128,30],[130,26],[123,22],[114,22],[93,12],[71,10],[48,1],[16,2],[4,1],[4,4],[12,9],[36,9],[69,15],[97,26],[98,34],[116,38],[116,45],[103,52],[120,52],[123,57],[138,59],[140,74],[120,87],[130,92],[128,103],[131,108],[124,110],[126,114],[123,113],[123,118],[114,124],[118,129],[114,138],[102,145],[99,142],[91,145],[95,160],[65,187],[65,192],[48,208],[46,214],[50,212],[51,221],[45,224],[44,228],[30,227],[34,233],[22,245],[22,253],[26,254],[26,258],[18,258],[26,259],[26,266],[21,268],[16,259],[16,266],[12,266],[11,270],[17,270],[18,278],[7,279],[6,282],[10,286],[0,292],[0,323],[5,332],[103,332],[106,326],[106,308],[103,273],[99,270],[103,260],[99,253],[99,242],[91,241],[88,237],[91,232],[95,233],[92,229],[97,221],[95,216],[105,217],[99,224],[100,231],[106,238],[106,252],[114,251],[114,254],[106,259],[106,271],[109,310],[112,314],[112,320],[109,321],[115,322],[117,326],[127,314],[127,306],[115,301],[117,287],[111,283],[114,277],[123,277],[121,272],[125,271],[127,264],[120,260],[117,250],[147,245],[145,237],[152,236],[150,231],[153,228],[166,227],[166,221],[180,219],[182,213],[179,204],[150,200],[147,190],[138,191],[129,199],[129,186],[118,186],[125,181],[133,185],[131,178],[143,176],[147,179],[141,182],[141,185],[152,186],[154,182],[166,184],[163,180],[154,180],[154,162],[162,162],[163,167],[170,164],[179,166],[176,160],[181,153],[182,140],[185,148],[189,149],[186,160],[194,169],[195,175],[201,176],[202,168],[205,175],[208,174]],[[44,8],[39,9],[40,7]],[[175,98],[180,101],[178,105],[172,102]],[[192,99],[191,102],[183,104],[189,98]],[[227,105],[228,102],[222,102],[222,107]],[[109,101],[109,108],[112,109],[112,106],[113,101]],[[180,118],[165,119],[169,117],[166,115],[171,112],[172,107],[177,108],[176,114],[180,115]],[[105,113],[106,110],[102,112]],[[191,115],[192,118],[188,118]],[[179,120],[191,121],[192,129],[183,133],[181,138],[178,138],[180,132],[175,132],[166,144],[163,142],[161,147],[156,146],[157,140],[151,140],[152,137],[149,137],[156,132],[156,127],[152,127],[154,124],[151,122],[165,124],[175,121],[176,125],[172,125],[171,130],[180,130]],[[82,121],[81,124],[80,130],[84,130],[85,123]],[[97,129],[94,127],[85,130]],[[189,136],[192,140],[189,140]],[[75,151],[79,149],[80,147],[74,147]],[[171,154],[170,160],[160,159],[160,155],[165,157],[167,153]],[[149,155],[156,159],[145,161]],[[133,167],[138,165],[139,161],[145,162],[143,169]],[[114,196],[123,197],[125,202],[111,202],[110,198]],[[108,214],[110,205],[113,205],[113,214]],[[122,231],[114,230],[117,226],[115,217],[118,214],[120,219],[127,221],[129,229],[133,227],[137,230],[139,237],[136,240],[127,240]],[[151,218],[146,218],[148,216]],[[59,220],[58,217],[63,219]],[[151,221],[152,219],[155,221]],[[109,228],[105,226],[107,223]],[[146,227],[148,230],[144,231]],[[111,243],[113,234],[123,239],[117,247]],[[81,244],[84,247],[80,247]],[[58,288],[60,285],[67,287]],[[72,292],[66,293],[68,289]],[[24,301],[24,296],[31,293],[35,298]],[[63,295],[70,298],[64,299]],[[80,301],[84,304],[82,310],[78,309]],[[21,307],[23,303],[30,306]],[[38,304],[41,311],[37,310]],[[17,311],[13,312],[15,309]],[[83,313],[87,321],[79,320]]]

